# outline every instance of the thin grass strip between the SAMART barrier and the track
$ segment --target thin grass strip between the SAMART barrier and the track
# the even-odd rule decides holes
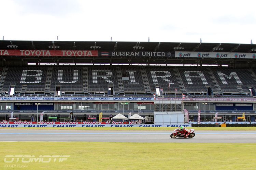
[[[173,131],[176,128],[107,128],[107,127],[95,127],[95,128],[0,128],[1,129],[32,129],[32,130],[92,130],[92,131]],[[189,129],[189,128],[188,128]],[[196,131],[256,131],[256,127],[226,127],[226,128],[190,128]]]

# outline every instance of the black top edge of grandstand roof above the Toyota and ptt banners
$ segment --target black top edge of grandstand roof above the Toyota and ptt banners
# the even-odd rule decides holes
[[[10,49],[8,45],[17,45],[19,50],[49,50],[49,46],[59,46],[58,50],[90,50],[91,46],[100,46],[103,51],[133,51],[134,46],[144,47],[144,51],[174,51],[174,47],[184,47],[179,51],[213,51],[215,47],[222,52],[251,52],[254,44],[229,43],[168,43],[168,42],[115,42],[115,41],[18,41],[1,40],[0,49]]]

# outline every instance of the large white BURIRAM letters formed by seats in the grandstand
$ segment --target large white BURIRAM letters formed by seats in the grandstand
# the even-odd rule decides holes
[[[99,72],[102,72],[105,75],[99,75]],[[139,84],[138,82],[136,82],[136,78],[134,75],[134,72],[136,72],[136,70],[126,70],[126,72],[128,72],[129,78],[130,78],[129,79],[130,82],[128,82],[128,84]],[[165,75],[156,75],[157,72],[158,73],[162,72]],[[32,73],[34,73],[34,74],[32,74]],[[191,73],[194,73],[194,74],[196,73],[197,75],[190,75]],[[42,81],[42,74],[43,74],[42,70],[23,70],[22,76],[20,79],[20,83],[40,83]],[[113,83],[110,80],[113,76],[113,73],[110,70],[92,70],[92,74],[93,74],[93,83],[94,84],[98,83],[99,77],[102,78],[107,83]],[[217,74],[218,74],[219,79],[221,80],[222,84],[224,84],[224,85],[228,84],[226,78],[231,80],[232,77],[236,80],[237,84],[239,84],[239,85],[243,84],[235,71],[231,71],[229,75],[226,75],[225,73],[223,73],[221,71],[217,71]],[[202,80],[203,84],[208,84],[203,72],[201,72],[201,71],[184,71],[184,75],[185,75],[185,78],[186,78],[186,81],[188,84],[193,84],[192,78],[200,78]],[[35,80],[34,81],[26,81],[27,77],[34,77]],[[158,84],[159,78],[163,79],[168,84],[174,84],[170,80],[171,73],[169,71],[151,71],[151,77],[152,77],[154,84]],[[79,71],[78,70],[73,70],[73,80],[71,82],[63,81],[63,70],[58,70],[57,80],[60,83],[76,83],[78,81],[78,79],[79,79]]]

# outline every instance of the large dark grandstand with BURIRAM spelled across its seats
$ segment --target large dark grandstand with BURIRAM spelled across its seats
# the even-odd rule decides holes
[[[254,49],[253,44],[0,41],[0,120],[12,111],[28,119],[38,112],[39,100],[40,112],[61,117],[73,111],[85,121],[88,113],[152,118],[154,111],[183,108],[193,116],[202,102],[215,99],[204,108],[209,120],[219,109],[226,119],[241,111],[255,120],[256,104],[247,100],[256,91]],[[154,103],[184,100],[182,94],[183,106]],[[129,103],[121,105],[124,101]]]

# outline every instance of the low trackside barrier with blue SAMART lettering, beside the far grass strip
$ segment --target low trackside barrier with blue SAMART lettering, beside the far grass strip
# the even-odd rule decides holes
[[[191,124],[0,124],[0,128],[93,128],[93,127],[108,127],[108,128],[161,128],[161,127],[191,127]]]

